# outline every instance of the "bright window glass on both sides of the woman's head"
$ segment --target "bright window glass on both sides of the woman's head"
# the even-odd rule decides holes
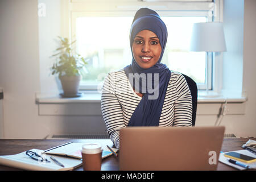
[[[172,71],[191,76],[197,83],[205,82],[205,52],[189,52],[193,23],[206,22],[205,17],[162,16],[168,40],[162,63]],[[88,58],[87,73],[82,84],[97,84],[110,71],[131,63],[129,32],[133,17],[77,18],[77,52]]]

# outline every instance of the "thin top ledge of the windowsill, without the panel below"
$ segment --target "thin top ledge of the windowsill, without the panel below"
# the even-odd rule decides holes
[[[56,93],[48,94],[36,94],[37,104],[69,104],[69,103],[97,103],[101,101],[101,93],[90,90],[82,91],[82,96],[75,98],[63,98]],[[203,97],[201,96],[204,92],[199,91],[197,97],[197,103],[239,103],[245,102],[246,97],[241,96],[241,94],[226,93],[219,94],[216,97]]]

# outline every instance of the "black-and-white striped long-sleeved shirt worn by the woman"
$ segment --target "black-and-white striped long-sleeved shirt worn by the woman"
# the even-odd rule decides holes
[[[110,139],[119,148],[119,130],[127,127],[142,97],[133,90],[125,71],[110,72],[102,87],[101,111]],[[192,97],[187,81],[172,72],[168,83],[159,127],[192,126]]]

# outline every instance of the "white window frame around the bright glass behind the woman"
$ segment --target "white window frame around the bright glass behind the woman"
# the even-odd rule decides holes
[[[222,20],[222,0],[215,0],[214,4],[210,1],[205,2],[138,2],[136,0],[130,0],[123,2],[110,1],[106,6],[106,3],[101,0],[70,0],[64,5],[68,14],[65,15],[64,27],[66,28],[65,36],[69,39],[75,39],[76,32],[76,18],[82,16],[134,16],[135,12],[140,7],[148,7],[158,12],[160,16],[205,16],[208,22],[218,22]],[[105,6],[104,6],[105,5]],[[99,8],[100,7],[100,8]],[[210,16],[209,13],[213,13],[214,16]],[[72,40],[73,41],[73,40]],[[209,58],[205,54],[205,60],[208,61],[208,85],[209,90],[214,92],[220,92],[222,88],[222,53],[209,53]],[[220,72],[219,72],[220,71]],[[80,90],[97,90],[99,85],[80,84]],[[205,90],[205,84],[197,84],[199,90]]]

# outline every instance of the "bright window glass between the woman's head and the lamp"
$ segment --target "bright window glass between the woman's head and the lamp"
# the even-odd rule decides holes
[[[172,71],[205,82],[205,52],[189,51],[193,23],[206,22],[205,17],[162,17],[168,30],[168,40],[162,63]]]

